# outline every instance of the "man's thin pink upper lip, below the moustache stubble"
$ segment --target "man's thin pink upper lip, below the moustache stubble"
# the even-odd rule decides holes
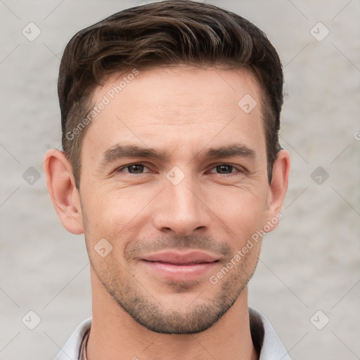
[[[149,262],[168,262],[169,264],[200,264],[203,262],[216,262],[219,257],[200,251],[174,252],[164,251],[146,255],[143,260]]]

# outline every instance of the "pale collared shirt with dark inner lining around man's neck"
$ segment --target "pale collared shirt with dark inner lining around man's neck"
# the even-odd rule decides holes
[[[259,360],[290,360],[288,352],[266,317],[249,307],[252,342]],[[72,333],[55,360],[86,360],[86,342],[91,328],[91,318],[83,321]]]

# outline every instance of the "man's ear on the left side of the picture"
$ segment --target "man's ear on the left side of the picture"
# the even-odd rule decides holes
[[[65,153],[50,149],[44,156],[44,172],[53,206],[61,224],[70,233],[84,233],[79,191]]]

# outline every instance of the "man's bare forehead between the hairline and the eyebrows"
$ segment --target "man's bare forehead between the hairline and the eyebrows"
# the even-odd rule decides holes
[[[262,146],[260,96],[259,84],[245,70],[129,70],[94,91],[94,105],[105,105],[91,121],[83,148],[103,152],[124,141],[202,147],[226,137]]]

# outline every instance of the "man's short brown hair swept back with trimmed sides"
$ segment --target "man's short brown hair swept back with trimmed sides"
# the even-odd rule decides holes
[[[262,30],[236,13],[210,4],[167,0],[128,8],[86,27],[69,41],[60,63],[58,96],[63,150],[79,188],[79,124],[91,111],[91,94],[115,73],[172,65],[244,68],[262,90],[268,179],[280,146],[283,70]],[[78,129],[75,133],[73,129]],[[69,134],[72,134],[69,136]]]

